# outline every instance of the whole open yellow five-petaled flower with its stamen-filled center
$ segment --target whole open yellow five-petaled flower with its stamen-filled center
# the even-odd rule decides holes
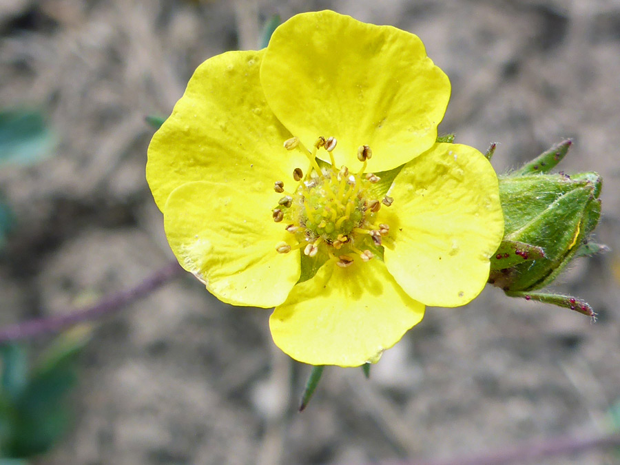
[[[180,264],[223,302],[276,307],[292,358],[375,362],[424,305],[475,298],[502,239],[486,158],[435,143],[449,95],[415,35],[331,11],[205,61],[148,153]]]

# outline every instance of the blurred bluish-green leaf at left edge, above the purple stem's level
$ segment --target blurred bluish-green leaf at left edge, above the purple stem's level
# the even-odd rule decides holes
[[[50,155],[56,142],[55,134],[40,112],[0,112],[0,163],[34,163]]]

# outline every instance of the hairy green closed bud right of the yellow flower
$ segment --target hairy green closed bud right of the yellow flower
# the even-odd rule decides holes
[[[601,216],[601,176],[593,172],[548,174],[570,145],[570,141],[555,145],[521,169],[499,177],[505,231],[491,260],[489,282],[509,296],[594,316],[591,307],[579,299],[533,292],[550,285],[576,256],[605,249],[588,243]]]

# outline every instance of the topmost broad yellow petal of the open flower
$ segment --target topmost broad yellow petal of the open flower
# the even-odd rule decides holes
[[[406,163],[435,143],[448,105],[448,77],[420,39],[332,11],[298,14],[273,32],[260,68],[269,106],[306,147],[338,140],[337,165],[368,171]],[[324,150],[318,152],[329,161]]]

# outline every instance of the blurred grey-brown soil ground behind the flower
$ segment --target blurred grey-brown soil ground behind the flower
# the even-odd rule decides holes
[[[574,138],[560,169],[603,176],[596,240],[612,251],[577,260],[557,289],[598,321],[489,287],[427,309],[371,380],[326,369],[299,414],[309,367],[273,347],[269,311],[225,307],[183,276],[94,326],[68,433],[35,463],[368,464],[608,431],[620,399],[617,0],[1,1],[0,111],[27,115],[36,140],[0,165],[12,218],[0,324],[59,315],[165,265],[145,115],[167,116],[205,59],[256,48],[273,14],[322,8],[420,36],[453,85],[440,132],[482,152],[497,142],[499,172]],[[25,345],[36,359],[49,343]]]

